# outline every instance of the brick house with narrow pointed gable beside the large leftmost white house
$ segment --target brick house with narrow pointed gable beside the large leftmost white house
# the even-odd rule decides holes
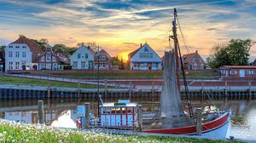
[[[58,70],[59,57],[54,54],[51,47],[46,45],[43,54],[38,55],[38,70]]]

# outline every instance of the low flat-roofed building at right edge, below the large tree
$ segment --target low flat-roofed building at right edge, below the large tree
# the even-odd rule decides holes
[[[256,77],[256,66],[221,66],[219,69],[222,77]]]

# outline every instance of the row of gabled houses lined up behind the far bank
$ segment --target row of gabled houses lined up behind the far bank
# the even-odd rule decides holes
[[[1,58],[2,56],[2,58]],[[148,43],[141,44],[138,49],[128,54],[131,70],[162,70],[162,59],[155,53]],[[38,43],[24,36],[9,43],[3,53],[0,53],[0,68],[9,70],[60,70],[64,66],[73,69],[92,70],[112,69],[112,57],[104,49],[99,52],[82,44],[72,55],[55,53],[51,46],[45,45],[42,50]],[[206,68],[205,61],[197,51],[183,55],[186,70],[200,70]],[[2,68],[2,69],[3,69]]]

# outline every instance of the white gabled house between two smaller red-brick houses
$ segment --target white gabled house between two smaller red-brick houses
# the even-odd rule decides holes
[[[71,66],[73,69],[91,70],[94,66],[94,52],[84,44],[71,55]]]

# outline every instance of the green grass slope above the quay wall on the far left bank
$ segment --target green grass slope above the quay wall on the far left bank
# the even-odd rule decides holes
[[[48,86],[48,80],[30,79],[23,77],[7,77],[0,76],[0,84],[14,84],[14,85],[32,85],[32,86]],[[62,88],[78,88],[78,83],[65,83],[50,81],[51,87],[62,87]],[[81,84],[81,88],[93,89],[95,86],[89,84]]]

